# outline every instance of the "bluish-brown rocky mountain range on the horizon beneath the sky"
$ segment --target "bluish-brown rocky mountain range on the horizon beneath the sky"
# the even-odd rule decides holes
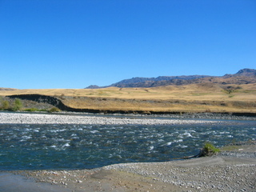
[[[155,87],[155,86],[181,86],[193,83],[213,82],[219,84],[247,84],[256,82],[256,70],[243,69],[236,74],[219,76],[209,75],[182,75],[182,76],[159,76],[158,78],[130,78],[116,82],[110,86],[117,87]],[[110,86],[88,86],[86,89],[105,88]]]

